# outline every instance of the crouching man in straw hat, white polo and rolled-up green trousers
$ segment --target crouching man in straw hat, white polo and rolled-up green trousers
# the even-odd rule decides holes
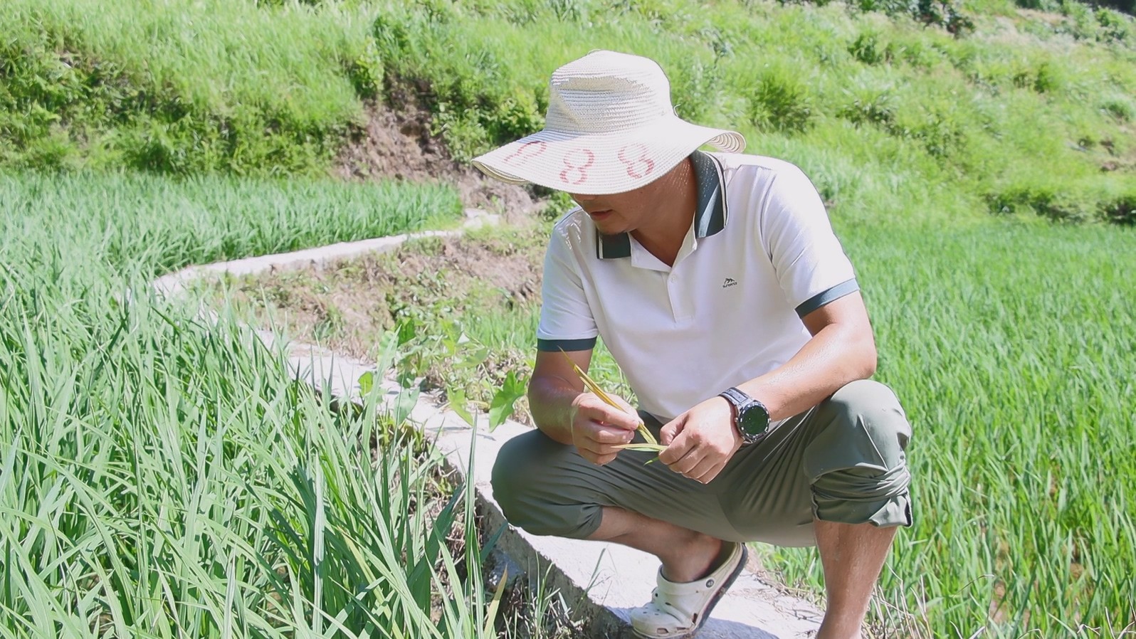
[[[544,131],[475,160],[578,204],[544,262],[538,430],[501,451],[493,490],[529,532],[657,556],[654,595],[632,613],[642,637],[696,632],[745,543],[765,541],[819,548],[818,637],[855,638],[896,527],[911,524],[911,429],[867,379],[871,326],[817,190],[744,145],[678,118],[655,62],[595,51],[553,73]],[[598,336],[637,414],[575,375]],[[640,420],[667,446],[660,463],[620,448]]]

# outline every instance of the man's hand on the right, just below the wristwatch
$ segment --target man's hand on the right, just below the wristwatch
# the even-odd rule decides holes
[[[709,484],[742,447],[742,436],[734,428],[729,402],[711,397],[663,426],[659,443],[667,446],[659,453],[660,462],[677,473]]]

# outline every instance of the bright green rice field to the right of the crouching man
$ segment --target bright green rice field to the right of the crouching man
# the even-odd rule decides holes
[[[936,637],[1131,630],[1136,235],[842,230],[876,328],[876,377],[914,427],[916,526],[900,533],[883,599],[926,616]],[[777,557],[791,580],[819,583],[815,554]]]

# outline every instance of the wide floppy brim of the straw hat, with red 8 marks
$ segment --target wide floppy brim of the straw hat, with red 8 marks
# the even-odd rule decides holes
[[[479,155],[473,163],[510,184],[607,195],[654,182],[703,144],[741,152],[745,138],[734,131],[671,117],[616,133],[571,135],[545,129]]]

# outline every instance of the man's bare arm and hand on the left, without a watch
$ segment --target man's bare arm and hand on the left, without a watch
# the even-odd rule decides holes
[[[571,351],[568,358],[586,371],[592,351]],[[576,446],[579,454],[598,464],[616,459],[619,448],[635,436],[638,417],[624,403],[620,411],[584,392],[571,363],[560,352],[538,351],[528,381],[528,407],[537,428],[561,444]]]

